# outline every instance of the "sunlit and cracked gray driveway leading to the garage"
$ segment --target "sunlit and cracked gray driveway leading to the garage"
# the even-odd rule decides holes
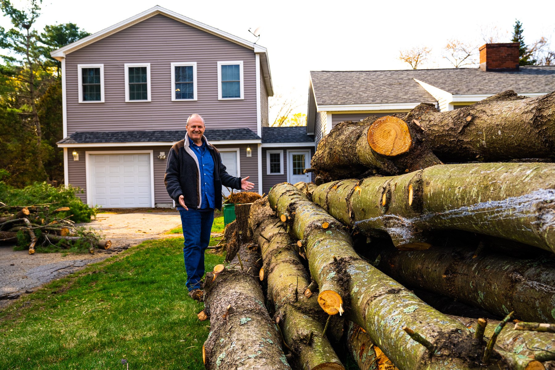
[[[165,234],[181,225],[176,211],[138,211],[129,213],[99,213],[97,218],[84,226],[93,227],[112,240],[108,250],[96,250],[94,254],[36,253],[14,251],[13,246],[0,246],[0,307],[22,293],[30,293],[37,287],[118,254],[129,247],[149,239],[178,237]],[[181,237],[183,237],[181,235]]]

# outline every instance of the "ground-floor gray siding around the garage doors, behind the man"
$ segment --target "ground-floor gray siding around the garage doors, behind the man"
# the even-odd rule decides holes
[[[239,147],[239,172],[241,177],[246,177],[250,175],[249,181],[255,184],[255,191],[258,191],[258,149],[256,146],[251,146],[253,149],[253,156],[247,158],[246,156],[246,145],[218,145],[219,150],[225,150],[226,148],[238,148]],[[163,151],[166,156],[171,146],[139,146],[139,147],[125,147],[121,150],[153,150],[153,161],[154,161],[154,203],[171,203],[172,200],[166,191],[164,185],[164,173],[166,170],[166,159],[158,159],[160,151]],[[72,151],[68,150],[68,180],[69,184],[72,186],[80,187],[83,192],[77,194],[83,202],[87,202],[87,180],[86,180],[86,170],[85,170],[85,151],[113,151],[114,154],[118,153],[117,149],[114,148],[77,148],[75,149],[79,153],[79,161],[73,160]]]

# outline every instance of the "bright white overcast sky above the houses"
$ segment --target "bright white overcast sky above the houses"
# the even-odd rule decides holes
[[[16,6],[26,3],[12,0]],[[447,39],[484,42],[483,29],[497,27],[509,42],[515,19],[527,43],[554,38],[555,1],[170,1],[45,0],[37,28],[76,23],[100,31],[155,5],[254,41],[247,30],[261,26],[259,44],[268,48],[275,93],[293,94],[306,113],[310,70],[406,69],[399,50],[432,48],[427,68],[449,68],[441,58]],[[9,21],[0,22],[9,27]]]

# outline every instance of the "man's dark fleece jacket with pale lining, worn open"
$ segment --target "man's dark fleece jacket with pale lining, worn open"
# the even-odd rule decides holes
[[[214,160],[214,190],[216,192],[214,206],[221,209],[221,185],[241,189],[241,179],[235,178],[225,171],[218,149],[209,144],[204,135],[203,140]],[[179,205],[179,196],[183,195],[185,205],[190,209],[200,209],[206,206],[200,204],[202,197],[200,196],[199,161],[193,149],[189,147],[188,134],[185,134],[185,139],[175,143],[168,153],[164,184],[176,205]]]

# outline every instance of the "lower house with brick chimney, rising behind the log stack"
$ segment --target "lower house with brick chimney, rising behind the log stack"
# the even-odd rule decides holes
[[[408,112],[420,103],[440,111],[504,90],[537,97],[555,90],[555,66],[519,67],[518,43],[480,47],[480,68],[312,71],[306,132],[316,143],[341,121]]]

